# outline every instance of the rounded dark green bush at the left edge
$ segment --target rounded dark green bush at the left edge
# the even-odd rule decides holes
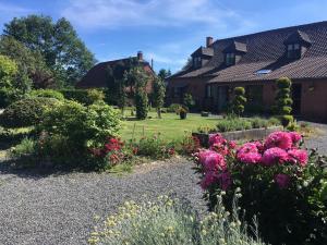
[[[26,98],[10,105],[0,115],[3,127],[33,126],[43,120],[45,111],[60,102],[52,98]]]

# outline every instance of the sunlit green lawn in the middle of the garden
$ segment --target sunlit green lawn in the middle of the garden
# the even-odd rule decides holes
[[[148,114],[152,119],[144,121],[124,121],[121,136],[128,140],[142,136],[160,134],[167,140],[183,138],[185,133],[196,131],[198,127],[215,127],[218,118],[203,118],[199,114],[189,113],[185,120],[180,120],[175,113],[162,113],[162,119],[158,119],[155,112]],[[134,133],[133,133],[134,132]]]

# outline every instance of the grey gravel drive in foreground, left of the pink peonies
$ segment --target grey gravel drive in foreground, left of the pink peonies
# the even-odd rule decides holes
[[[175,193],[205,210],[198,179],[183,159],[157,162],[132,174],[10,173],[0,163],[0,244],[86,244],[94,217],[104,217],[125,200]]]

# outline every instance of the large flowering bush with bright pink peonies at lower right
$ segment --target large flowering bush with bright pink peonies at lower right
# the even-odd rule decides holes
[[[235,147],[210,135],[210,148],[194,155],[209,208],[226,193],[231,209],[239,192],[245,220],[257,217],[265,242],[327,244],[326,157],[302,149],[302,142],[298,133],[275,132]]]

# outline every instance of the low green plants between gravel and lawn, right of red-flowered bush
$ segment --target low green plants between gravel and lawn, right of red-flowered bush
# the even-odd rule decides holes
[[[165,159],[174,155],[174,145],[161,139],[160,135],[143,137],[138,142],[131,142],[131,147],[137,156],[153,159]]]

